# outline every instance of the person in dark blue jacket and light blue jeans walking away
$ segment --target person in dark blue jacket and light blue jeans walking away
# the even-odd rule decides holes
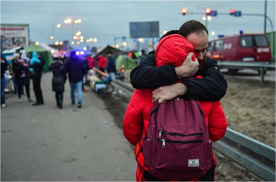
[[[84,61],[77,55],[76,51],[72,51],[69,59],[65,62],[65,71],[71,87],[72,106],[75,106],[75,89],[78,92],[78,108],[81,108],[82,101],[82,81],[85,72]]]

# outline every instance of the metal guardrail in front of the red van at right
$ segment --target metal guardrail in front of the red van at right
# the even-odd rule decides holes
[[[218,61],[220,68],[229,68],[229,69],[258,69],[260,70],[260,82],[261,84],[264,81],[264,71],[265,68],[274,68],[275,63],[270,62],[242,62],[242,61]]]

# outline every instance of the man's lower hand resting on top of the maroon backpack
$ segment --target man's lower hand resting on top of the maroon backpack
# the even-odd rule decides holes
[[[182,83],[159,87],[152,92],[151,102],[155,102],[158,100],[158,103],[161,104],[164,100],[171,100],[178,95],[185,94],[186,90],[186,85]]]

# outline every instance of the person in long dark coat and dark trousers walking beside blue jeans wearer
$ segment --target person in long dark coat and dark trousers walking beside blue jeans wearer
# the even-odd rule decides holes
[[[56,92],[57,107],[62,109],[64,84],[66,82],[66,73],[62,60],[54,58],[49,70],[53,72],[52,90]]]

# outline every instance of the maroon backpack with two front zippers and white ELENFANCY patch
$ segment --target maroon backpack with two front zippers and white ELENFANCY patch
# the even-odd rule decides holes
[[[212,141],[200,103],[177,97],[151,108],[144,164],[160,179],[204,176],[211,168]]]

